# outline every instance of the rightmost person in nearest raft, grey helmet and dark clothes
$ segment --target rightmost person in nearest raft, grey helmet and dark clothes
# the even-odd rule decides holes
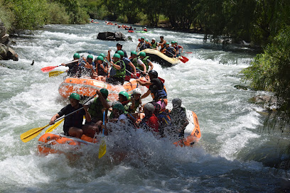
[[[186,108],[181,106],[181,99],[173,99],[173,109],[170,111],[171,116],[171,136],[177,138],[184,138],[184,130],[188,126],[188,119],[186,116]]]

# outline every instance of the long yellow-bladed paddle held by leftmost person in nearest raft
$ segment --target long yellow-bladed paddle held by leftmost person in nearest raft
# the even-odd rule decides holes
[[[90,99],[94,98],[96,95],[97,95],[97,93],[96,93],[94,96],[91,96],[89,99],[87,99],[87,101],[90,101]],[[86,104],[87,101],[85,101],[84,104]],[[83,108],[84,108],[84,107],[82,106],[82,108],[80,108],[80,109],[83,109]],[[80,109],[77,109],[76,111],[73,111],[73,112],[71,112],[70,114],[67,114],[67,115],[64,116],[63,118],[65,118],[65,117],[67,117],[67,116],[70,116],[71,114],[74,114],[74,113],[77,112],[77,111],[80,111]],[[55,122],[60,121],[60,120],[63,119],[63,118],[60,117],[60,118],[56,119]],[[43,126],[43,127],[32,128],[31,130],[26,131],[25,133],[22,133],[21,136],[20,136],[20,138],[21,138],[21,140],[22,140],[24,143],[26,143],[26,142],[28,142],[29,140],[32,140],[33,138],[36,138],[36,136],[38,136],[39,133],[41,133],[41,131],[43,131],[43,129],[46,128],[46,127],[48,127],[49,125],[50,125],[50,124],[48,124],[48,125],[46,125],[46,126]],[[56,126],[55,126],[54,128],[56,128]],[[54,128],[53,128],[53,129],[54,129]],[[51,131],[53,131],[53,129],[51,129]]]

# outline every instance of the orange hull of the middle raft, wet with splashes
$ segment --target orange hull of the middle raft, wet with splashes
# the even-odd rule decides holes
[[[140,79],[146,81],[145,77],[141,77]],[[130,79],[129,82],[124,82],[123,85],[113,85],[97,79],[68,77],[60,84],[58,92],[65,98],[70,96],[73,92],[82,96],[94,96],[97,89],[100,90],[104,88],[109,91],[108,99],[110,101],[115,101],[119,98],[119,92],[126,91],[128,94],[131,94],[133,89],[136,89],[137,87],[141,87],[141,85],[136,81],[136,79]]]

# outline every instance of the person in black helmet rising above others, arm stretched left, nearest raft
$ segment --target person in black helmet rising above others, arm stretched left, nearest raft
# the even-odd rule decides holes
[[[149,86],[149,90],[141,96],[141,99],[146,98],[151,94],[154,102],[161,106],[161,111],[165,110],[167,106],[167,93],[164,89],[164,84],[158,78],[158,72],[155,70],[149,71],[150,81],[142,82],[140,79],[136,79],[142,86]]]

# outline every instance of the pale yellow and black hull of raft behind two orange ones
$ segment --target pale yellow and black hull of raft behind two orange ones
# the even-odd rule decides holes
[[[181,62],[178,57],[168,57],[167,55],[159,52],[159,50],[145,49],[142,52],[146,53],[146,56],[150,56],[152,62],[157,62],[161,66],[171,67]]]

